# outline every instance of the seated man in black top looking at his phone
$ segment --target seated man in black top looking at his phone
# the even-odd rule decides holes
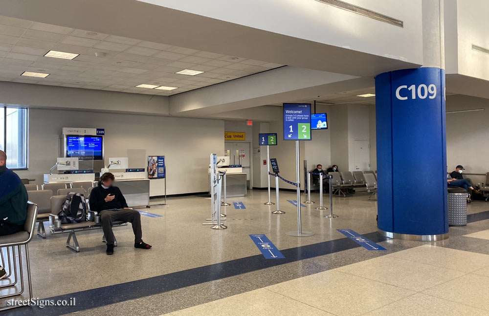
[[[100,177],[100,182],[90,193],[90,210],[100,214],[102,229],[107,240],[107,255],[114,253],[114,233],[112,222],[122,220],[131,222],[134,232],[134,248],[150,249],[151,246],[144,243],[141,232],[141,215],[138,211],[129,208],[126,199],[118,187],[112,186],[114,175],[106,172]]]

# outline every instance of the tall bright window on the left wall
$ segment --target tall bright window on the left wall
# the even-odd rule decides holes
[[[27,169],[27,109],[0,107],[0,149],[7,154],[7,167]]]

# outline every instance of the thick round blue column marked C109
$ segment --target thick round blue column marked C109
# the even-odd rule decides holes
[[[375,89],[378,228],[386,236],[445,238],[445,70],[383,73]]]

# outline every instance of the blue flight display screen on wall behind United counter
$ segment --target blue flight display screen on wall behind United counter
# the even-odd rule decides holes
[[[80,160],[102,160],[103,140],[100,136],[67,136],[66,157]]]

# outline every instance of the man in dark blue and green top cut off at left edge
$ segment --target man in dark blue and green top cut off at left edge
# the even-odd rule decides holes
[[[27,217],[27,191],[19,176],[6,167],[7,155],[0,150],[0,236],[23,231]],[[0,267],[0,279],[6,276]]]

